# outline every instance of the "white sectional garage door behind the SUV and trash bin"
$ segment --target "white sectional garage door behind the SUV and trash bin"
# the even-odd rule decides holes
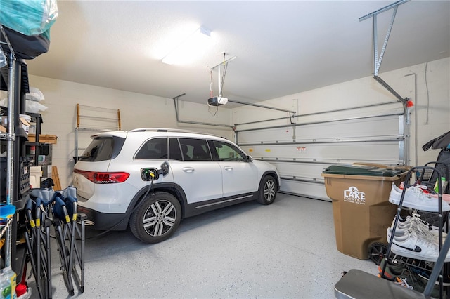
[[[334,164],[366,162],[402,165],[406,161],[404,115],[387,105],[375,113],[352,110],[323,113],[297,124],[236,131],[238,145],[254,159],[274,164],[282,182],[281,192],[328,199],[321,173]],[[327,119],[327,117],[330,117]]]

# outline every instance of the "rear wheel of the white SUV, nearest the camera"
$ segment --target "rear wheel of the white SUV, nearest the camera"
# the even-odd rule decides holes
[[[131,214],[129,227],[146,243],[158,243],[174,234],[181,221],[181,205],[172,194],[155,192],[143,199]]]

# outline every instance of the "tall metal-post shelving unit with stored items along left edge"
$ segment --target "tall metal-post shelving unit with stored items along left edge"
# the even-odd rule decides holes
[[[31,157],[25,155],[28,135],[20,123],[20,114],[25,113],[25,94],[30,92],[27,64],[15,54],[4,27],[0,25],[0,45],[6,55],[6,65],[0,68],[0,89],[8,92],[7,133],[0,134],[1,150],[6,151],[2,157],[2,171],[6,168],[6,184],[1,184],[1,204],[13,206],[11,223],[6,228],[3,247],[4,266],[11,267],[22,277],[23,249],[16,246],[18,230],[22,223],[22,212],[30,199]],[[6,167],[5,167],[6,166]],[[3,211],[2,211],[3,212]]]

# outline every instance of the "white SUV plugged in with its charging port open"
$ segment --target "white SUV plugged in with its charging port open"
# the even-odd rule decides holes
[[[181,218],[256,199],[274,202],[276,168],[214,135],[138,128],[98,133],[73,172],[79,211],[98,230],[169,238]]]

